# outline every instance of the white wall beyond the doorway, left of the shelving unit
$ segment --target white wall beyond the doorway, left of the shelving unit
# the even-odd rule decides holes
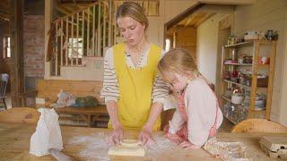
[[[199,72],[215,84],[219,21],[226,14],[217,13],[197,27],[197,64]]]

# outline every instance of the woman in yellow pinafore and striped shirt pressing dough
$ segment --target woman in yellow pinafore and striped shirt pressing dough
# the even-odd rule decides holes
[[[119,6],[117,25],[125,42],[107,50],[101,90],[109,112],[108,127],[114,130],[108,142],[120,143],[124,129],[132,129],[141,130],[143,145],[152,143],[152,130],[160,130],[159,115],[168,95],[166,83],[157,74],[164,51],[147,40],[148,20],[139,4]]]

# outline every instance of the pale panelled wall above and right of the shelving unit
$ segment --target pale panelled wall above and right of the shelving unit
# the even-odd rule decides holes
[[[274,92],[271,109],[271,120],[283,123],[282,109],[287,105],[282,105],[283,95],[283,74],[286,74],[284,69],[285,39],[286,33],[286,0],[258,0],[257,4],[250,6],[238,6],[234,13],[233,31],[235,35],[242,35],[248,30],[278,30],[279,39],[277,44],[276,64],[274,72]],[[285,62],[286,64],[287,62]]]

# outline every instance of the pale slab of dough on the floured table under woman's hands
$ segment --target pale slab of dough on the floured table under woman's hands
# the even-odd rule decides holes
[[[121,145],[110,147],[108,154],[111,156],[143,157],[145,148],[139,144],[137,140],[123,140]]]

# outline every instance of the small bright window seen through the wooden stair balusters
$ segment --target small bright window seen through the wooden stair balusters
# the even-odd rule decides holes
[[[72,50],[72,44],[74,51]],[[69,58],[83,57],[83,38],[69,38],[68,56]]]

